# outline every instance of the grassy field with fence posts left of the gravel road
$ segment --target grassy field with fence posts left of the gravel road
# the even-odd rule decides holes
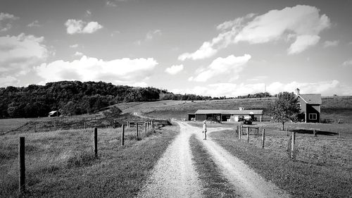
[[[25,197],[133,197],[177,135],[177,125],[160,130],[98,129],[98,156],[93,130],[26,133]],[[18,135],[0,136],[0,197],[18,197]]]

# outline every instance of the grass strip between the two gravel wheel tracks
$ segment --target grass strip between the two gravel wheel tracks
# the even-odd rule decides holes
[[[193,154],[194,165],[201,185],[203,185],[203,197],[239,197],[234,187],[222,175],[220,168],[216,166],[208,151],[204,149],[195,135],[189,140]]]

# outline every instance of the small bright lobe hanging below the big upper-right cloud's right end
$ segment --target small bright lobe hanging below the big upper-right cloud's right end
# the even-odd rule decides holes
[[[289,47],[288,54],[299,54],[308,47],[319,42],[320,37],[317,35],[300,35],[296,37],[296,41]]]

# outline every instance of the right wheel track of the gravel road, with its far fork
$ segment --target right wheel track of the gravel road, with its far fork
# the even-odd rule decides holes
[[[188,133],[195,133],[196,137],[203,142],[203,146],[208,150],[210,156],[213,157],[217,166],[222,170],[225,178],[235,187],[235,190],[242,197],[291,197],[290,194],[279,189],[272,182],[267,182],[260,175],[255,173],[249,166],[232,156],[225,149],[220,147],[216,142],[208,137],[203,140],[200,128],[179,122],[181,130],[187,130]],[[208,133],[215,130],[223,130],[221,128],[208,128]]]

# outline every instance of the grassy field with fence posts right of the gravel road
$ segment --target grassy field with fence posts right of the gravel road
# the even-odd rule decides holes
[[[265,130],[265,149],[261,148],[260,136],[250,135],[247,144],[246,136],[239,141],[234,130],[209,135],[294,197],[351,197],[351,139],[296,134],[296,161],[292,161],[287,151],[289,137],[282,131]]]

